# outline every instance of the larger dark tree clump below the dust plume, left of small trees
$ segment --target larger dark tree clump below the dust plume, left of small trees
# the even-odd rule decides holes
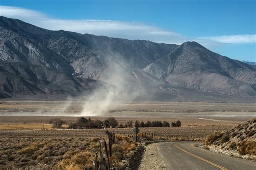
[[[103,122],[98,119],[92,120],[90,117],[88,119],[80,117],[76,123],[70,124],[69,128],[116,128],[117,126],[118,122],[114,117],[108,117]]]

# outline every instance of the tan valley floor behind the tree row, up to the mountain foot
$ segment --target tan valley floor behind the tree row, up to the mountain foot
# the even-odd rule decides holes
[[[128,120],[174,122],[179,119],[183,126],[191,127],[235,126],[256,117],[256,105],[252,103],[123,103],[98,116],[81,115],[82,107],[83,102],[76,101],[2,101],[0,129],[51,129],[49,121],[52,118],[73,123],[80,116],[101,121],[111,116],[119,123],[126,123]]]

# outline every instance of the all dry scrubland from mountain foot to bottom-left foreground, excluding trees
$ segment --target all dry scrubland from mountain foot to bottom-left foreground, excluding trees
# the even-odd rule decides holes
[[[49,121],[61,118],[74,123],[82,103],[73,102],[62,109],[65,102],[5,101],[0,103],[0,169],[37,166],[59,169],[82,169],[92,166],[99,139],[107,139],[104,129],[51,129]],[[59,108],[58,108],[58,107]],[[229,103],[129,103],[118,109],[92,117],[103,121],[116,117],[118,123],[138,121],[181,121],[181,127],[140,128],[141,132],[165,137],[167,140],[201,140],[208,134],[225,131],[255,117],[255,104]],[[59,115],[59,111],[62,115]],[[11,116],[10,116],[11,115]],[[38,115],[38,116],[36,116]],[[85,116],[88,117],[88,116]],[[137,147],[131,140],[132,128],[109,129],[123,138],[113,147],[113,165],[129,164]],[[130,137],[127,137],[130,136]],[[160,137],[154,137],[159,139]],[[146,139],[145,139],[146,140]],[[151,139],[150,139],[151,140]],[[120,154],[122,153],[122,155]],[[118,160],[118,161],[117,161]],[[47,164],[47,166],[45,165]]]

